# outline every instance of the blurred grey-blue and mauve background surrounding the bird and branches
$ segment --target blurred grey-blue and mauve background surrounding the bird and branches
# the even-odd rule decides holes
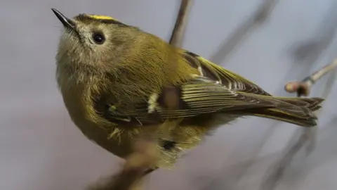
[[[265,0],[267,1],[267,0]],[[271,94],[336,58],[337,1],[283,0],[267,20],[250,27],[230,53],[233,34],[247,29],[263,0],[194,0],[183,48],[249,78]],[[68,17],[111,15],[169,40],[176,0],[2,0],[0,2],[0,189],[84,189],[116,172],[122,160],[75,127],[55,83],[55,53]],[[326,75],[310,96],[326,96],[316,146],[302,148],[277,184],[267,189],[334,190],[337,186],[337,85]],[[328,91],[326,90],[328,89]],[[263,189],[300,128],[262,118],[221,127],[183,156],[174,170],[158,170],[145,189]]]

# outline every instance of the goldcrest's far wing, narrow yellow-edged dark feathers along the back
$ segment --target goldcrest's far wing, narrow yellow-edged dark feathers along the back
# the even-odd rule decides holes
[[[211,80],[216,80],[233,91],[243,91],[251,94],[271,96],[266,91],[258,87],[257,84],[246,80],[244,77],[241,77],[230,70],[226,70],[225,68],[222,68],[195,53],[185,51],[183,49],[181,51],[186,61],[190,63],[192,67],[199,70],[200,75],[209,77]]]

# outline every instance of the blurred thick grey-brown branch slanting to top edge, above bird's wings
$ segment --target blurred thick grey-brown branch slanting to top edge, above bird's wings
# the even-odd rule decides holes
[[[270,16],[272,10],[274,10],[275,5],[278,0],[263,0],[263,4],[260,5],[258,10],[242,25],[240,25],[237,30],[234,30],[230,37],[227,37],[228,40],[224,42],[218,51],[211,56],[210,60],[214,63],[222,63],[225,58],[230,55],[230,53],[237,47],[237,45],[242,42],[242,39],[246,37],[248,32],[258,25],[262,25],[265,20]]]

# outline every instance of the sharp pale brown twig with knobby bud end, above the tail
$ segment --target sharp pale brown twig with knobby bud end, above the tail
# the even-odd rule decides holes
[[[309,96],[312,86],[324,75],[331,72],[337,67],[337,59],[335,59],[329,65],[325,65],[323,68],[312,73],[312,75],[305,77],[301,82],[288,82],[284,89],[289,93],[297,93],[297,96]]]

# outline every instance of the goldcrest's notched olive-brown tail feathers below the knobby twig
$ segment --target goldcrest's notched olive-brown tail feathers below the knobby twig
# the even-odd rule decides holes
[[[321,108],[320,103],[322,103],[324,99],[274,96],[270,96],[270,98],[276,101],[277,106],[275,106],[275,108],[251,108],[245,110],[245,113],[247,115],[289,122],[303,127],[313,127],[317,125],[317,117],[313,112]]]

